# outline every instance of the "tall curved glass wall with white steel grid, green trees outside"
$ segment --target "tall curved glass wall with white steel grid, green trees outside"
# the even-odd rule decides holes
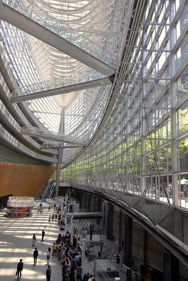
[[[148,2],[137,27],[137,41],[125,46],[131,57],[123,58],[108,122],[85,153],[62,170],[63,179],[187,208],[188,18],[184,4]]]

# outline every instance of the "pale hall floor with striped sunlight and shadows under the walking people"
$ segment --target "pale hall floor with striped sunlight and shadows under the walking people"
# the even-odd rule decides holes
[[[54,241],[57,239],[59,227],[57,223],[48,221],[49,212],[48,207],[51,205],[51,214],[53,210],[54,202],[56,205],[60,204],[60,198],[48,199],[48,202],[43,202],[44,214],[37,214],[37,207],[40,201],[35,201],[34,204],[34,214],[29,218],[7,218],[5,216],[5,209],[2,209],[0,215],[0,235],[1,235],[1,257],[0,257],[0,280],[1,281],[12,281],[17,280],[15,273],[17,263],[20,259],[23,260],[23,271],[21,280],[46,280],[45,272],[47,269],[46,264],[46,251],[48,247],[52,248]],[[75,226],[77,226],[80,231],[83,226],[88,223],[94,223],[96,225],[96,220],[80,220]],[[45,228],[44,242],[41,242],[41,232]],[[65,233],[69,229],[69,225],[66,225],[65,230],[61,233]],[[37,265],[33,263],[33,251],[32,247],[32,236],[36,233],[36,244],[39,251],[39,256],[37,259]],[[110,245],[107,245],[110,244]],[[113,244],[113,245],[112,245]],[[105,246],[109,246],[111,249],[117,252],[118,244],[110,242],[109,240],[104,241]],[[99,251],[98,247],[94,247],[96,252]],[[50,265],[52,270],[51,281],[61,281],[61,271],[62,265],[57,257],[50,257]],[[121,272],[120,265],[117,265],[119,270],[121,281],[126,280],[126,274]],[[93,268],[88,263],[85,262],[84,270],[93,274]],[[97,280],[97,279],[96,279]],[[112,278],[114,280],[114,278]]]

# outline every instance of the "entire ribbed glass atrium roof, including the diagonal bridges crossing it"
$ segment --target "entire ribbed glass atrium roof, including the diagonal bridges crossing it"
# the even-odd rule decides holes
[[[96,0],[1,3],[1,66],[10,101],[37,120],[21,127],[33,123],[34,128],[57,133],[63,111],[67,128],[63,132],[77,138],[85,127],[89,133],[83,143],[91,139],[114,81],[127,5],[126,1]],[[75,120],[80,129],[70,129]],[[34,139],[39,148],[45,142]],[[80,151],[73,147],[70,155]]]

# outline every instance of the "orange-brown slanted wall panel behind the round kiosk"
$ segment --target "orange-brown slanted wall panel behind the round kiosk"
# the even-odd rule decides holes
[[[50,179],[56,167],[0,163],[0,197],[35,197],[44,183]]]

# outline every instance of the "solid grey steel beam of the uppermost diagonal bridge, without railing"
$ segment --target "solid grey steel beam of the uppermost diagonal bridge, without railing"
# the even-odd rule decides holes
[[[115,69],[107,65],[103,61],[96,57],[93,57],[89,53],[81,50],[73,43],[63,39],[54,32],[41,26],[29,17],[17,12],[13,8],[2,3],[1,19],[9,22],[9,24],[19,28],[20,30],[38,38],[42,42],[49,44],[53,48],[60,52],[82,62],[83,64],[96,69],[96,71],[111,76],[115,73]]]

